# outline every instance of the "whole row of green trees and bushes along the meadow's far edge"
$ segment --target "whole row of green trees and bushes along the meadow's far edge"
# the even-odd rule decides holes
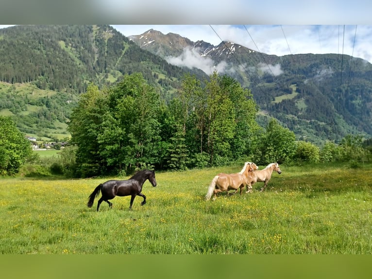
[[[185,74],[168,103],[160,95],[138,72],[125,74],[118,84],[103,89],[91,83],[71,113],[70,146],[51,163],[50,171],[92,177],[247,160],[259,165],[349,160],[357,166],[370,158],[371,140],[361,136],[348,135],[339,144],[328,141],[320,148],[305,139],[296,140],[293,131],[275,119],[261,127],[250,90],[217,72],[203,83]],[[17,173],[27,160],[37,163],[10,119],[2,117],[0,122],[1,173]],[[21,144],[14,145],[12,139]],[[18,154],[21,149],[23,153]],[[28,159],[15,160],[20,157]]]

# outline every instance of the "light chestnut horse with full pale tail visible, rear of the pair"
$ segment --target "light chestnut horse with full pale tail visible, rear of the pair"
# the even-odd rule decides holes
[[[245,162],[242,170],[237,174],[217,174],[208,187],[208,192],[205,195],[205,200],[209,200],[214,195],[213,200],[216,199],[217,193],[226,191],[229,195],[229,190],[237,190],[240,188],[240,194],[243,191],[244,186],[247,185],[247,176],[249,172],[257,170],[258,167],[252,162]]]

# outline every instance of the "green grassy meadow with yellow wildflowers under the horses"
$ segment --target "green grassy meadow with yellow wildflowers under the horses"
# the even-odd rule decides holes
[[[264,166],[260,166],[262,169]],[[86,207],[108,179],[0,179],[0,254],[371,254],[372,165],[282,165],[266,192],[205,201],[215,174],[156,173],[130,197]]]

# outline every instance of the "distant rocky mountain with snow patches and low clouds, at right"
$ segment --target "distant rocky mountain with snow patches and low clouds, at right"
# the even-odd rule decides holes
[[[234,42],[218,46],[149,30],[130,40],[185,69],[218,70],[251,89],[258,122],[275,117],[299,139],[372,135],[372,65],[342,54],[268,55]]]

